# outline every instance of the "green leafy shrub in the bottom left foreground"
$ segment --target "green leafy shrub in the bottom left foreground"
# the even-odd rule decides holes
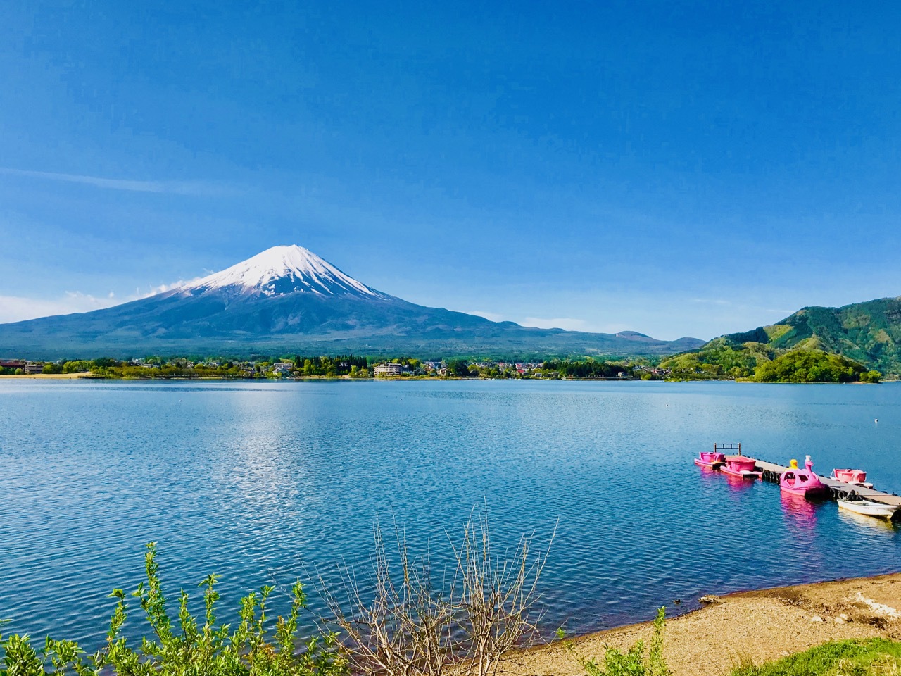
[[[241,598],[240,622],[231,630],[216,624],[215,589],[218,576],[209,575],[204,588],[205,614],[194,617],[187,607],[188,595],[178,597],[177,617],[170,617],[159,578],[156,545],[147,545],[145,570],[132,597],[139,600],[150,632],[141,644],[132,646],[123,634],[128,618],[126,593],[114,589],[116,598],[106,644],[87,654],[74,641],[57,641],[49,636],[42,648],[32,646],[28,635],[0,636],[0,676],[44,676],[66,674],[98,676],[111,671],[128,676],[344,676],[344,660],[334,634],[299,637],[297,617],[306,607],[300,582],[291,589],[291,610],[273,622],[267,615],[271,586]]]

